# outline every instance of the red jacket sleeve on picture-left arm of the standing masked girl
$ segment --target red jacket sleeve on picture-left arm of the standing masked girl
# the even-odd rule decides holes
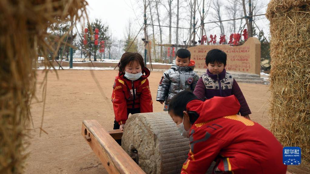
[[[118,124],[125,124],[127,120],[127,103],[122,89],[122,83],[116,78],[113,85],[112,103],[115,120]]]

